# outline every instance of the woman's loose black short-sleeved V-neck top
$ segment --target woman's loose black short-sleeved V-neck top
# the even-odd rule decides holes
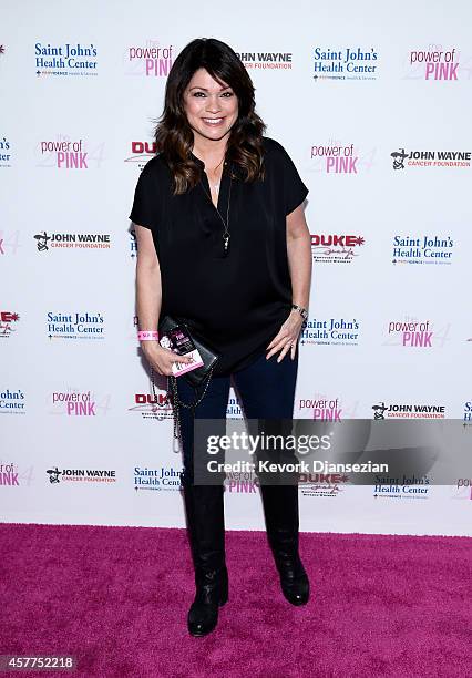
[[[230,374],[265,353],[290,314],[286,215],[308,188],[278,142],[264,137],[264,181],[230,179],[230,163],[224,165],[218,212],[226,220],[230,188],[226,256],[224,225],[209,197],[204,163],[195,155],[202,181],[194,188],[174,196],[170,168],[156,155],[134,194],[130,219],[151,228],[160,260],[161,317],[184,320],[220,353],[214,374]],[[238,175],[239,168],[233,170]]]

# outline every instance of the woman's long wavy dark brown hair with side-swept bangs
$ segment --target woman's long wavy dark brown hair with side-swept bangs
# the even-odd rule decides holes
[[[174,194],[193,188],[201,168],[191,156],[194,135],[184,110],[184,91],[198,69],[219,84],[229,85],[238,100],[238,117],[229,132],[226,158],[240,170],[243,181],[264,178],[263,134],[266,125],[257,115],[254,85],[243,62],[225,42],[197,38],[178,54],[168,73],[164,112],[155,129],[156,150],[174,177]]]

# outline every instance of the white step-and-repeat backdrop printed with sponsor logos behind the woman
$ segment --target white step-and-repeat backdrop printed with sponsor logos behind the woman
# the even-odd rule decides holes
[[[196,37],[240,55],[310,188],[296,415],[466,432],[471,19],[465,0],[3,1],[3,522],[184,525],[172,411],[138,353],[127,215],[166,74]],[[304,481],[302,530],[469,534],[465,484]],[[252,479],[228,479],[226,506],[229,528],[263,528]]]

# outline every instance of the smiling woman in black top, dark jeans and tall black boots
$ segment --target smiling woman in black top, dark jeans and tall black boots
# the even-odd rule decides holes
[[[264,130],[236,53],[218,40],[192,41],[171,69],[157,155],[140,176],[130,218],[137,238],[141,330],[155,331],[160,317],[170,315],[220,355],[196,418],[225,420],[230,377],[247,418],[293,417],[297,340],[311,275],[302,210],[308,189]],[[171,376],[174,362],[187,361],[155,339],[141,346],[160,374]],[[177,379],[177,392],[184,402],[195,400],[185,377]],[[203,636],[215,628],[218,605],[228,598],[224,487],[193,483],[192,417],[181,410],[196,584],[187,625]],[[298,487],[261,485],[260,494],[283,593],[291,604],[305,604],[309,582],[298,554]]]

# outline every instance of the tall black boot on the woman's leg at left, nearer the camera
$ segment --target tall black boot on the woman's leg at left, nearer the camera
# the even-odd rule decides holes
[[[228,599],[225,562],[223,485],[194,485],[182,479],[187,530],[195,568],[195,599],[188,610],[188,631],[209,634],[218,622],[218,606]]]

